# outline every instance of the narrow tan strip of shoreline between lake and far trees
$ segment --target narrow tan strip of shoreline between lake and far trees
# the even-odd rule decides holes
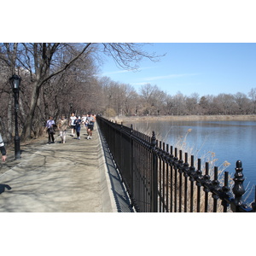
[[[255,114],[247,115],[159,115],[159,116],[116,116],[108,118],[117,123],[150,121],[256,121]]]

